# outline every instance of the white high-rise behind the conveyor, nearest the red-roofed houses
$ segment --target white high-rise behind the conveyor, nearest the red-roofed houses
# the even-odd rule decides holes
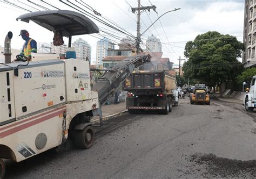
[[[109,39],[104,37],[97,41],[96,66],[102,65],[102,59],[107,56],[108,49],[114,49],[114,45]]]

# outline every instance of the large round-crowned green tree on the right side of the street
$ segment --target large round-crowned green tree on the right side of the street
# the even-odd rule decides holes
[[[219,32],[206,32],[197,35],[194,41],[188,41],[184,55],[188,61],[183,70],[186,78],[207,82],[208,85],[219,85],[222,96],[221,83],[235,82],[242,71],[241,58],[244,44],[232,35]]]

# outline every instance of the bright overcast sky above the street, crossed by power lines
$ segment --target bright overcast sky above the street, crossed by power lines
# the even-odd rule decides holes
[[[2,1],[2,0],[1,0]],[[69,6],[55,0],[45,0],[52,5],[57,6],[59,9],[74,10]],[[80,1],[80,0],[78,0]],[[101,13],[105,18],[111,19],[114,23],[123,27],[124,30],[133,34],[136,33],[136,20],[137,17],[131,12],[130,5],[136,7],[138,5],[137,0],[94,0],[88,1],[83,0],[86,4],[89,4],[93,9]],[[23,8],[37,11],[32,9],[33,6],[37,9],[38,6],[29,3],[27,1],[11,1],[21,5]],[[23,3],[28,5],[25,5]],[[41,5],[39,1],[32,1]],[[66,2],[66,1],[64,1]],[[75,3],[75,1],[70,0],[70,2]],[[173,10],[174,8],[181,8],[181,10],[167,13],[165,16],[160,18],[154,26],[152,26],[144,35],[143,41],[147,39],[147,36],[153,34],[161,40],[163,43],[163,57],[170,58],[170,61],[174,64],[178,64],[178,58],[184,58],[184,47],[186,41],[193,40],[198,34],[205,33],[207,31],[218,31],[223,34],[231,34],[242,41],[243,26],[244,26],[244,0],[141,0],[143,6],[147,5],[157,6],[158,16],[162,15],[164,12]],[[79,5],[84,8],[83,6]],[[49,7],[49,6],[48,6]],[[50,7],[49,7],[50,8]],[[14,37],[11,40],[11,48],[20,49],[24,43],[21,37],[18,37],[19,31],[26,29],[30,33],[30,37],[35,39],[37,42],[47,42],[50,43],[53,38],[53,33],[46,30],[45,28],[30,22],[17,22],[16,18],[28,11],[15,8],[14,6],[0,2],[0,17],[1,17],[1,36],[0,36],[0,46],[4,46],[5,34],[9,31],[14,33]],[[54,9],[54,8],[50,8]],[[84,8],[86,11],[88,9]],[[76,11],[76,10],[74,10]],[[142,30],[144,32],[147,27],[151,25],[151,21],[154,22],[158,18],[156,12],[144,12],[141,16],[142,19]],[[93,20],[93,19],[92,19]],[[105,25],[93,20],[100,28],[107,28]],[[161,24],[160,24],[161,23]],[[162,28],[162,26],[163,28]],[[110,29],[111,30],[111,29]],[[108,31],[107,32],[114,31]],[[100,32],[100,34],[103,34]],[[118,42],[120,38],[125,37],[124,34],[114,33],[118,37],[111,37],[114,42]],[[100,37],[97,35],[97,37]],[[90,35],[79,35],[73,37],[72,41],[83,38],[92,47],[92,61],[96,59],[96,43],[99,39],[91,37]],[[65,44],[68,44],[68,39],[64,38]]]

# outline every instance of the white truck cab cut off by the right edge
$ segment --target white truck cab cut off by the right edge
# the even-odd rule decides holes
[[[256,108],[256,75],[252,77],[250,89],[246,90],[243,105],[246,111],[253,111]]]

